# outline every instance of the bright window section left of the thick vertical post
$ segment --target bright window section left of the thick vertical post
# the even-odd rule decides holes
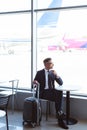
[[[0,82],[19,79],[20,89],[31,86],[30,2],[0,1]],[[10,84],[0,83],[0,86]]]

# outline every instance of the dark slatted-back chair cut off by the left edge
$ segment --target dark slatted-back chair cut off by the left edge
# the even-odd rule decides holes
[[[9,95],[0,95],[0,117],[6,116],[6,127],[9,130],[8,126],[8,103],[9,103]]]

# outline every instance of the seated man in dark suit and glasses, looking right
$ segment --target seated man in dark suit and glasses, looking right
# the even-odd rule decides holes
[[[62,98],[63,92],[55,89],[55,81],[62,85],[63,81],[56,71],[53,70],[53,62],[51,58],[46,58],[43,61],[45,68],[37,71],[34,78],[34,83],[40,84],[40,98],[47,99],[55,102],[56,115],[58,118],[59,126],[68,129],[64,122],[65,115],[62,111]]]

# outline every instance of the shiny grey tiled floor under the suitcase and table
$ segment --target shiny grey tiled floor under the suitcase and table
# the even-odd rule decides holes
[[[58,126],[55,117],[49,117],[48,121],[43,116],[41,125],[31,128],[29,125],[23,126],[22,112],[8,112],[9,130],[63,130]],[[0,130],[6,130],[5,117],[0,118]],[[69,130],[87,130],[87,121],[78,121],[75,125],[69,125]]]

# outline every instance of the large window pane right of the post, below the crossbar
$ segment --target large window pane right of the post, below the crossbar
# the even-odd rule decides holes
[[[64,85],[80,88],[79,93],[87,94],[86,6],[40,11],[37,17],[38,70],[43,68],[44,58],[52,57]]]

